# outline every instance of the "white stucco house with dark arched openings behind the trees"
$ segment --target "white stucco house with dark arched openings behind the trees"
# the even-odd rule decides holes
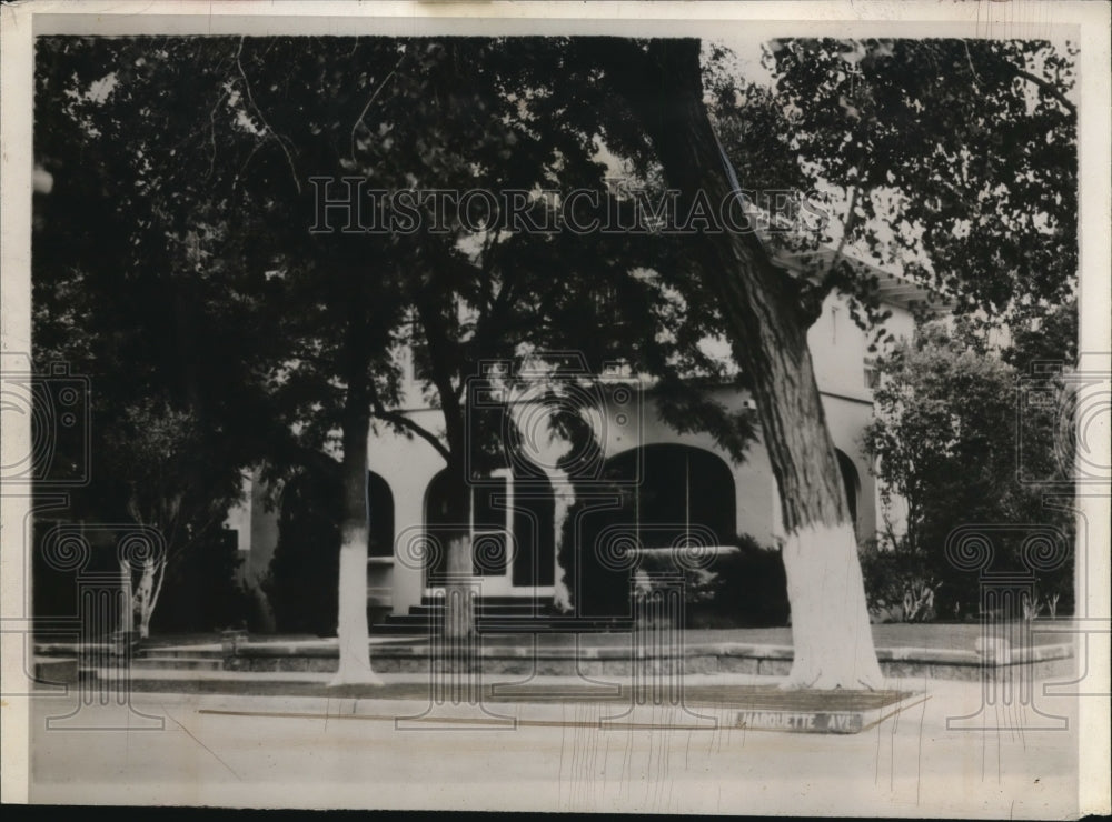
[[[880,298],[891,311],[886,330],[896,338],[910,338],[912,303],[926,301],[926,292],[891,272],[873,269],[872,273],[880,278]],[[826,298],[808,341],[857,538],[864,542],[882,524],[876,481],[862,447],[873,413],[868,338],[852,320],[847,300],[835,292]],[[599,489],[597,515],[580,510],[590,509],[589,500],[582,495],[576,500],[579,509],[573,539],[577,544],[572,550],[605,551],[598,542],[607,533],[613,537],[616,520],[626,523],[626,535],[633,529],[635,540],[647,549],[674,545],[684,534],[695,534],[704,543],[748,534],[761,544],[776,544],[782,534],[780,503],[759,442],[749,447],[743,463],[735,464],[708,434],[681,434],[665,424],[656,412],[651,384],[624,381],[617,374],[603,375],[602,384],[607,392],[596,414],[602,445],[597,458],[608,475],[629,480],[628,490],[615,498],[613,488]],[[618,385],[626,391],[615,393],[612,389]],[[731,409],[752,408],[749,398],[734,388],[724,387],[717,398]],[[428,429],[441,425],[440,412],[421,400],[416,382],[407,392],[404,411]],[[377,622],[391,615],[403,618],[411,609],[419,611],[436,585],[429,579],[435,551],[428,550],[426,538],[435,532],[438,478],[445,462],[420,438],[384,430],[368,440],[367,463],[371,511],[368,608]],[[556,532],[565,522],[557,502],[567,501],[558,485],[535,475],[515,480],[512,470],[503,470],[476,487],[471,528],[483,597],[503,603],[563,603],[568,589],[583,583],[567,578],[557,557]],[[248,579],[266,573],[278,540],[277,514],[266,510],[261,494],[261,488],[251,487],[229,518],[246,552]],[[589,572],[590,563],[579,563],[574,573]],[[625,578],[619,573],[614,584],[628,585],[628,571]]]

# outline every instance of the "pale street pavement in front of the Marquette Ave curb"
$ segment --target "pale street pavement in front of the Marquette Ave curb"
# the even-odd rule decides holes
[[[757,682],[768,684],[768,678],[685,680],[693,689]],[[533,684],[559,691],[582,682],[537,678]],[[128,705],[83,706],[66,728],[66,721],[48,719],[67,713],[72,694],[36,696],[32,799],[259,808],[1074,815],[1076,699],[1045,696],[1040,688],[1039,704],[1005,703],[999,694],[990,704],[975,683],[892,684],[923,690],[930,699],[864,732],[827,736],[742,728],[729,721],[736,711],[725,709],[696,706],[691,715],[649,706],[631,718],[607,703],[534,700],[484,705],[487,710],[476,714],[428,699],[365,694],[135,693]],[[654,711],[662,720],[656,724],[629,721],[654,718]],[[1050,726],[1048,714],[1064,722]],[[608,721],[615,715],[618,721]],[[138,730],[140,716],[160,720],[161,730]],[[413,718],[423,719],[407,721]],[[459,721],[467,719],[473,721]],[[105,725],[99,731],[78,730],[80,723],[98,722]]]

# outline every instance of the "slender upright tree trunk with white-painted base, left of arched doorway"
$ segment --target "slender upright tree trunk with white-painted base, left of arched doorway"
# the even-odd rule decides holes
[[[381,684],[370,668],[367,623],[367,437],[370,417],[359,380],[348,385],[345,407],[344,519],[340,523],[339,607],[336,633],[339,668],[329,684]]]

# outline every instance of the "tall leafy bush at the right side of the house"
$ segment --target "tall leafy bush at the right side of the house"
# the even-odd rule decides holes
[[[880,537],[874,601],[902,605],[904,593],[927,585],[936,589],[940,615],[976,614],[977,575],[947,560],[946,540],[959,525],[994,529],[995,570],[1022,571],[1024,528],[1072,534],[1070,515],[1044,502],[1048,493],[1070,493],[1071,463],[1058,453],[1062,420],[1053,405],[1021,403],[1023,372],[945,324],[921,328],[877,370],[876,420],[865,445],[890,514],[894,494],[906,512],[900,528],[888,519]],[[1068,567],[1043,573],[1040,597],[1068,601],[1071,583]]]

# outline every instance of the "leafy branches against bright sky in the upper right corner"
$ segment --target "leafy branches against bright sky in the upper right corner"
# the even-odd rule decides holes
[[[765,62],[800,167],[852,209],[838,220],[846,242],[999,322],[1076,288],[1074,53],[1036,40],[793,39]]]

